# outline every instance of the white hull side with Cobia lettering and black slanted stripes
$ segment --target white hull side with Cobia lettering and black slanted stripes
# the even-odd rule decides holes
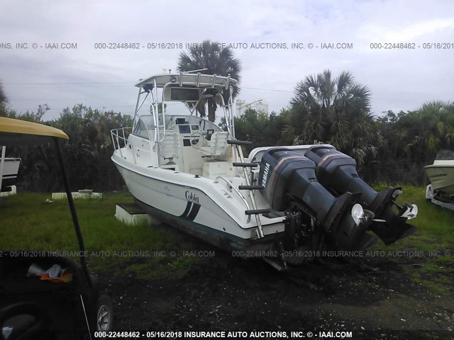
[[[223,249],[268,249],[270,240],[284,232],[284,217],[266,219],[262,221],[265,237],[255,241],[251,238],[257,228],[255,220],[248,222],[245,207],[238,205],[223,184],[214,183],[213,179],[166,169],[144,169],[117,154],[112,160],[141,208],[211,244]]]

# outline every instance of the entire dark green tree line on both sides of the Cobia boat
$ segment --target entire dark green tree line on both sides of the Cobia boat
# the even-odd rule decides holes
[[[297,104],[299,105],[299,104]],[[337,103],[331,103],[336,106]],[[369,182],[411,183],[423,185],[423,166],[431,164],[440,149],[454,149],[454,104],[425,103],[419,110],[375,117],[360,117],[342,111],[318,115],[298,106],[270,114],[248,109],[235,118],[236,137],[251,140],[253,146],[331,144],[355,158],[360,175]],[[73,188],[112,191],[122,188],[111,154],[110,131],[132,125],[131,115],[101,112],[82,104],[65,108],[60,118],[43,122],[48,106],[36,112],[18,114],[4,109],[0,115],[20,118],[59,128],[70,137],[62,144],[70,183]],[[350,118],[353,115],[355,118]],[[20,188],[25,191],[57,191],[62,183],[53,145],[23,145],[7,149],[11,157],[20,156]],[[246,151],[250,151],[250,149]]]

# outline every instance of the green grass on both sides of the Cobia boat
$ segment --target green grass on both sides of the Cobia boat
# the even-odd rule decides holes
[[[376,190],[385,184],[375,186]],[[46,203],[50,194],[20,193],[0,200],[0,249],[37,249],[46,251],[77,251],[77,239],[66,200]],[[418,217],[410,222],[418,228],[411,237],[391,246],[378,242],[372,250],[423,251],[423,267],[409,268],[415,283],[434,292],[445,292],[445,277],[454,271],[454,211],[426,201],[425,188],[405,186],[399,203],[416,203]],[[101,200],[75,200],[84,235],[87,261],[96,271],[133,273],[139,278],[179,278],[194,263],[206,259],[193,256],[168,256],[174,250],[192,249],[185,235],[165,227],[128,226],[114,217],[116,203],[133,202],[129,193],[109,193]],[[104,251],[104,253],[101,253]],[[138,256],[114,256],[115,251],[142,251]],[[167,251],[158,256],[155,251]],[[436,256],[428,256],[429,251]],[[146,253],[145,253],[146,252]],[[146,256],[143,256],[146,254]],[[103,256],[101,256],[103,255]],[[401,261],[395,258],[395,261]],[[116,269],[121,269],[118,271]],[[452,286],[452,284],[451,284]],[[453,288],[448,288],[453,290]]]

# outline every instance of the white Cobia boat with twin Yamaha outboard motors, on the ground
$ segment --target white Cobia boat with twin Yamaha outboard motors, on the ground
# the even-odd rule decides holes
[[[407,220],[417,207],[397,204],[400,188],[377,193],[331,145],[257,147],[245,157],[252,143],[236,139],[236,79],[179,72],[135,86],[133,127],[111,131],[111,159],[137,205],[168,225],[278,269],[414,232]],[[209,98],[223,128],[197,114]],[[331,185],[330,176],[348,185]]]

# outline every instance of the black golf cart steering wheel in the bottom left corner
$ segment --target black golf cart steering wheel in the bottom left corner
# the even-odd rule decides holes
[[[16,320],[11,334],[5,336],[4,331],[9,326],[9,320],[14,318],[19,318],[18,322],[21,324],[18,326]],[[0,310],[0,340],[53,339],[48,334],[50,326],[49,314],[32,302],[19,302]]]

